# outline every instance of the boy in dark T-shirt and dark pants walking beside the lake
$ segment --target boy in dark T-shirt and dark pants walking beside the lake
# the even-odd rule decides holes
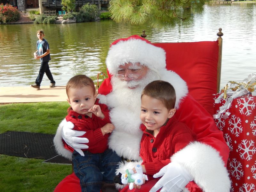
[[[51,81],[50,87],[55,87],[55,81],[53,80],[52,73],[49,68],[49,60],[51,60],[50,57],[50,46],[48,42],[44,39],[44,31],[38,30],[36,32],[38,41],[36,42],[37,50],[34,52],[35,59],[40,59],[41,66],[39,69],[39,74],[36,78],[36,84],[31,85],[31,87],[34,87],[36,89],[40,89],[40,84],[44,77],[44,72],[46,73],[46,76]]]

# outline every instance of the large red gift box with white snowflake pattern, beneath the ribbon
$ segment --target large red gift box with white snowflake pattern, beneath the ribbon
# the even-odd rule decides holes
[[[216,100],[220,94],[214,94]],[[227,99],[214,103],[214,113]],[[230,149],[227,168],[232,180],[231,192],[256,191],[256,97],[251,93],[233,99],[230,107],[215,119],[217,127],[223,132]]]

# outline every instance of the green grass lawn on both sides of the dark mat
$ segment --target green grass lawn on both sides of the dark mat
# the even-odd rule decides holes
[[[55,134],[67,115],[68,102],[0,105],[0,133],[24,131]],[[42,163],[42,159],[0,155],[0,191],[52,192],[72,171],[71,165]]]

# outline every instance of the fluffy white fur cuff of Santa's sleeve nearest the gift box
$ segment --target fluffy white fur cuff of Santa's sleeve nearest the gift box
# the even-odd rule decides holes
[[[229,192],[228,171],[214,148],[201,142],[192,142],[171,157],[191,174],[204,192]]]

